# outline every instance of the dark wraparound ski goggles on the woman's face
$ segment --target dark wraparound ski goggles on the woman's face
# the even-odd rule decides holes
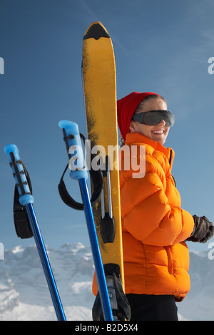
[[[143,125],[159,125],[161,120],[164,120],[167,127],[172,127],[175,123],[175,115],[169,110],[150,110],[133,115],[132,120]]]

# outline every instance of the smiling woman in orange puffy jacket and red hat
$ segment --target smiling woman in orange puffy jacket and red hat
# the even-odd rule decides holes
[[[133,92],[118,100],[118,126],[125,145],[146,148],[146,173],[133,178],[121,149],[121,219],[126,297],[131,320],[177,321],[175,301],[190,289],[185,240],[206,242],[213,225],[180,207],[171,175],[174,152],[163,144],[174,123],[165,99]],[[138,150],[139,151],[139,150]]]

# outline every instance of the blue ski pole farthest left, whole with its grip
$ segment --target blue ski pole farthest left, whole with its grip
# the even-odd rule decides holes
[[[24,167],[19,157],[19,150],[14,144],[6,145],[4,148],[5,153],[8,155],[9,163],[13,171],[14,178],[16,180],[16,185],[19,190],[19,202],[21,205],[25,206],[27,215],[29,217],[29,222],[31,225],[31,230],[34,234],[34,239],[36,242],[36,247],[39,252],[39,257],[41,259],[41,264],[44,269],[44,274],[46,276],[46,281],[49,285],[49,291],[51,293],[51,298],[56,311],[56,316],[58,321],[66,321],[66,316],[63,311],[63,306],[61,304],[61,299],[58,294],[58,289],[56,287],[56,282],[54,279],[54,274],[51,269],[51,264],[49,262],[49,257],[46,252],[46,247],[44,245],[44,240],[41,236],[38,222],[36,220],[36,214],[34,212],[34,197],[31,195],[29,189],[29,183],[26,179],[26,174],[24,172]]]

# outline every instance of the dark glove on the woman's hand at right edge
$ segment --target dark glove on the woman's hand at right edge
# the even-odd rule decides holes
[[[213,223],[210,222],[207,217],[197,217],[197,215],[193,215],[193,219],[195,222],[193,232],[186,240],[199,243],[207,242],[214,234]]]

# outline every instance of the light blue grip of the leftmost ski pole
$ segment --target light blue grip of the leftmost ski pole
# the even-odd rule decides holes
[[[31,195],[29,183],[26,179],[23,163],[19,157],[19,150],[14,144],[6,145],[4,148],[5,153],[8,155],[9,164],[13,171],[16,180],[16,186],[19,191],[19,202],[21,205],[26,205],[34,202],[34,197]]]

